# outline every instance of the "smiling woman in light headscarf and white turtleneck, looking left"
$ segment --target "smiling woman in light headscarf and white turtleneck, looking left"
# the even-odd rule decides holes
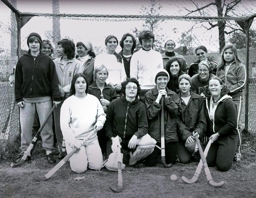
[[[89,85],[93,83],[93,70],[96,51],[90,41],[77,43],[77,59],[82,63],[82,73]]]

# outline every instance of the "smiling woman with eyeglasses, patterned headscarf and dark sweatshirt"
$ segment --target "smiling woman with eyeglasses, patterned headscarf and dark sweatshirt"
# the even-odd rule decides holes
[[[201,95],[205,99],[204,86],[208,85],[209,79],[215,76],[212,74],[212,64],[210,61],[201,61],[198,65],[198,74],[191,78],[190,90]]]

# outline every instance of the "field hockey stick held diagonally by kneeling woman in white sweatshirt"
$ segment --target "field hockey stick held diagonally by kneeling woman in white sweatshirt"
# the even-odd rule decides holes
[[[91,133],[89,133],[89,135],[87,135],[86,138],[83,139],[83,143],[82,143],[82,144],[84,144],[94,133],[95,133],[95,131],[92,131]],[[79,150],[79,149],[78,149],[78,148],[74,148],[69,154],[67,154],[59,163],[57,163],[57,164],[55,165],[55,167],[53,167],[53,168],[52,168],[47,174],[45,174],[44,176],[40,176],[40,175],[38,175],[37,173],[33,173],[33,177],[34,177],[37,181],[39,181],[39,182],[45,181],[45,180],[49,179],[57,170],[60,169],[60,167],[63,166],[63,164],[65,164],[65,163],[69,160],[69,158],[70,158],[71,156],[73,156],[73,154],[74,154],[75,152],[77,152],[77,150]]]

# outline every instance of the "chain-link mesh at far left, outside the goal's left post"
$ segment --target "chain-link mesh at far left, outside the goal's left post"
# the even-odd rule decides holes
[[[15,14],[1,4],[0,22],[0,153],[19,136],[18,109],[14,99],[14,68],[17,56],[17,22]]]

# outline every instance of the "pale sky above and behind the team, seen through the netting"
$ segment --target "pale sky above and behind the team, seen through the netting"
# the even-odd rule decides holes
[[[197,1],[200,5],[206,5],[210,1]],[[226,1],[228,2],[228,1]],[[149,1],[143,0],[112,0],[112,1],[63,1],[59,0],[59,12],[66,14],[124,14],[124,15],[139,15],[141,14],[141,8],[144,6],[147,10],[150,9]],[[236,10],[235,14],[243,12],[251,13],[248,11],[248,5],[250,1],[243,1],[243,6],[241,10]],[[181,16],[187,14],[187,11],[183,8],[193,9],[194,5],[191,1],[157,1],[156,7],[161,5],[162,7],[159,10],[160,15],[172,15],[172,16]],[[244,7],[247,7],[245,10]],[[250,5],[250,7],[253,7]],[[255,7],[255,6],[254,6]],[[51,0],[17,0],[17,8],[20,12],[32,12],[32,13],[52,13],[52,1]],[[256,10],[256,9],[255,9]],[[1,29],[6,29],[6,27],[11,24],[10,22],[10,10],[0,1],[0,16],[1,16]],[[216,15],[214,7],[209,8],[209,15]],[[8,16],[8,17],[5,17]],[[81,20],[82,19],[82,20]],[[112,34],[115,35],[118,40],[121,39],[122,35],[126,32],[132,33],[135,27],[139,30],[142,29],[142,24],[144,21],[141,20],[131,20],[131,21],[91,21],[92,19],[80,18],[76,19],[64,19],[60,20],[61,28],[61,37],[69,37],[78,41],[91,41],[94,46],[104,47],[105,38]],[[193,22],[181,21],[181,20],[165,20],[159,26],[159,32],[163,33],[166,38],[170,38],[177,43],[181,37],[181,33],[188,31]],[[207,25],[207,23],[203,23]],[[201,24],[200,24],[201,25]],[[199,27],[193,29],[192,34],[195,35],[194,45],[205,45],[209,51],[218,50],[218,29],[214,28],[211,31],[206,31],[205,28]],[[160,28],[162,30],[160,30]],[[8,29],[8,28],[7,28]],[[174,31],[175,29],[175,31]],[[33,17],[24,27],[21,29],[21,47],[22,49],[27,49],[26,37],[31,32],[37,32],[41,35],[42,39],[45,39],[45,33],[52,31],[52,19],[48,17]],[[7,47],[10,44],[10,32],[1,31],[0,33],[1,46]],[[166,38],[161,38],[163,41]],[[155,38],[160,39],[158,36]],[[163,43],[164,45],[164,43]],[[117,51],[121,50],[120,46],[117,48]]]

